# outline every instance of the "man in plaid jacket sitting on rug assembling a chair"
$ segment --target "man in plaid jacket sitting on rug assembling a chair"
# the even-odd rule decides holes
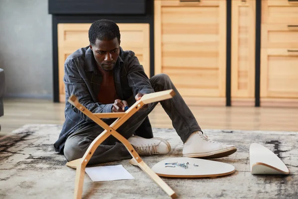
[[[184,143],[183,156],[220,158],[237,150],[233,145],[215,142],[203,135],[194,115],[167,75],[147,77],[135,53],[123,51],[120,47],[120,31],[116,23],[104,19],[95,21],[88,34],[90,45],[78,49],[65,61],[66,100],[75,95],[93,113],[124,112],[125,106],[132,105],[145,94],[173,89],[176,96],[160,103]],[[153,137],[148,114],[156,104],[143,107],[117,129],[139,155],[162,155],[171,150],[166,140]],[[65,117],[54,147],[72,161],[81,158],[104,129],[68,101]],[[103,120],[109,125],[115,121],[114,118]],[[98,146],[88,164],[130,158],[125,146],[109,136]]]

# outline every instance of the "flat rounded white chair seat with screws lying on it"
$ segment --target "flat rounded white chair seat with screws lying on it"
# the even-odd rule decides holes
[[[165,163],[189,163],[188,168],[184,169],[179,166],[165,167]],[[194,164],[199,166],[194,166]],[[173,166],[173,165],[170,165]],[[170,178],[208,178],[225,176],[233,173],[235,167],[223,162],[187,158],[187,157],[176,157],[162,160],[156,163],[151,168],[158,176],[170,177]]]

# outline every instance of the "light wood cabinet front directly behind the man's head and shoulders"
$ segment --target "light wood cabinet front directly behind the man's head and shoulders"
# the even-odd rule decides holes
[[[59,99],[65,101],[64,62],[76,51],[89,45],[89,23],[58,24],[58,59],[59,59]],[[135,52],[145,72],[150,77],[149,58],[149,24],[148,23],[118,23],[123,50]]]

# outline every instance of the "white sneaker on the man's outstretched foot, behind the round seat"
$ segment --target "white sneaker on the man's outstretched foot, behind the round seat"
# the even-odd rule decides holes
[[[201,131],[192,133],[184,143],[182,154],[189,158],[222,158],[237,151],[234,145],[226,145],[208,139]]]

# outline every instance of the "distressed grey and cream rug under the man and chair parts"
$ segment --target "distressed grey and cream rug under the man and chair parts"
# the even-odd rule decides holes
[[[25,125],[11,136],[0,138],[1,199],[72,199],[75,170],[65,166],[64,156],[53,150],[61,125]],[[153,129],[154,136],[171,144],[164,156],[144,156],[149,167],[171,157],[181,157],[183,144],[173,129]],[[236,145],[237,152],[217,161],[231,164],[236,171],[219,178],[162,178],[180,199],[199,198],[298,198],[298,132],[204,130],[209,138]],[[280,157],[290,175],[251,175],[249,146],[256,142]],[[93,183],[85,175],[83,198],[167,199],[169,198],[139,167],[129,160],[122,164],[136,179]]]

